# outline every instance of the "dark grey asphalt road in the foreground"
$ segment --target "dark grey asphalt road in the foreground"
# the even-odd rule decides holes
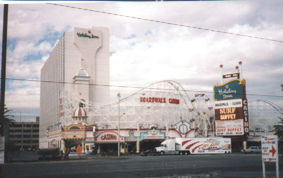
[[[283,175],[279,156],[280,175]],[[265,163],[275,176],[275,163]],[[281,167],[281,168],[280,168]],[[120,159],[6,163],[5,177],[262,177],[261,155],[127,156]]]

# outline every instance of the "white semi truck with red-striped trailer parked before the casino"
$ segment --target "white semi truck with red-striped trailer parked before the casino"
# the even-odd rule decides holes
[[[165,154],[231,154],[231,138],[174,138],[156,147],[160,155]]]

